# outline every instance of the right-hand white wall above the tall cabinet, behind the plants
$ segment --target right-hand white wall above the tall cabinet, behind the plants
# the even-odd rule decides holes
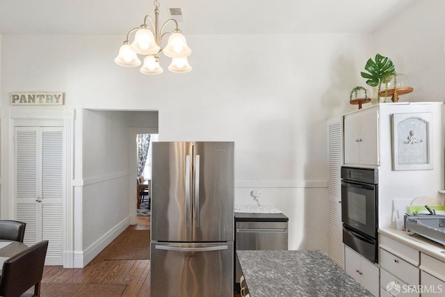
[[[444,101],[445,1],[417,0],[373,34],[375,52],[407,74],[414,92],[400,101]]]

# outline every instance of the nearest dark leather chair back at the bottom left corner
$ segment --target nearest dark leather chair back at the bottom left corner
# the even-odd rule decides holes
[[[48,241],[40,241],[3,263],[0,296],[20,296],[33,286],[34,296],[40,296],[40,281],[42,280],[47,248]]]

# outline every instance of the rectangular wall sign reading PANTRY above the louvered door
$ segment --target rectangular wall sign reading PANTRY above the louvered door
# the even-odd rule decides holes
[[[11,105],[63,105],[61,92],[11,93]]]

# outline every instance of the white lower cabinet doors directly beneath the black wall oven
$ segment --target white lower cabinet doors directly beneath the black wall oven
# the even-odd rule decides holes
[[[345,246],[345,270],[374,296],[379,296],[379,268]]]

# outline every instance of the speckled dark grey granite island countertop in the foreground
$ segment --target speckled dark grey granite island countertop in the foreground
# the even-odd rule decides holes
[[[318,250],[237,250],[250,297],[373,296]]]

